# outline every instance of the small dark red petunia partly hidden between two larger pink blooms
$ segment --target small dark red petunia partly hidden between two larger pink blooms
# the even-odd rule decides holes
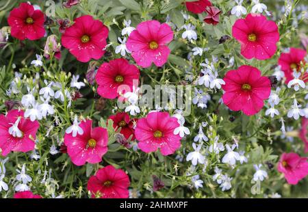
[[[126,139],[129,139],[131,135],[131,140],[135,140],[135,130],[133,129],[133,122],[137,122],[137,119],[129,118],[129,114],[122,112],[109,117],[114,121],[114,129],[121,128],[120,133],[124,135]]]

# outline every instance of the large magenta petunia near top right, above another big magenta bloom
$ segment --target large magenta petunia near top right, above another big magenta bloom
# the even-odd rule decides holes
[[[240,42],[241,53],[246,59],[269,59],[277,51],[277,24],[263,15],[248,14],[235,21],[232,36]]]

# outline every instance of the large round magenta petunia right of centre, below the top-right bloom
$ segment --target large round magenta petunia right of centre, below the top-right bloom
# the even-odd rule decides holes
[[[264,106],[264,99],[270,96],[270,79],[261,77],[261,72],[253,66],[229,70],[223,80],[226,83],[222,85],[224,105],[247,116],[257,114]]]

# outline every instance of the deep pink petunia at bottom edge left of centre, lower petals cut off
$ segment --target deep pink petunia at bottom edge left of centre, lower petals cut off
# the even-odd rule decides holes
[[[123,170],[107,165],[89,178],[88,191],[91,192],[92,198],[128,198],[129,184],[129,176]]]

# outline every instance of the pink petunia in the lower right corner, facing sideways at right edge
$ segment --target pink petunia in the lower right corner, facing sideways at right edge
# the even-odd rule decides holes
[[[296,153],[283,153],[278,163],[278,171],[285,174],[287,183],[296,185],[308,174],[307,157],[300,157]]]

